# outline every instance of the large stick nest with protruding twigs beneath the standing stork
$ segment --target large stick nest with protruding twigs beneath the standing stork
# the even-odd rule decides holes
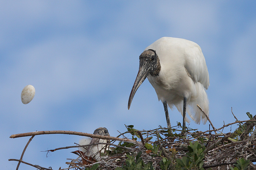
[[[141,165],[150,165],[153,167],[153,169],[158,170],[163,169],[163,166],[166,164],[166,160],[169,162],[169,169],[177,169],[177,163],[179,163],[180,160],[185,159],[185,157],[188,158],[188,155],[191,154],[191,146],[196,145],[202,151],[201,155],[203,163],[201,163],[201,169],[230,169],[229,167],[234,167],[234,164],[236,164],[236,162],[241,158],[250,161],[250,164],[248,163],[249,169],[256,169],[256,166],[252,163],[256,161],[256,115],[254,117],[252,117],[250,113],[247,113],[247,115],[250,120],[237,120],[236,122],[223,125],[218,129],[212,125],[208,118],[208,121],[211,123],[213,130],[204,132],[191,128],[187,128],[186,131],[182,131],[179,130],[181,129],[180,124],[172,127],[171,129],[158,127],[157,129],[148,131],[139,131],[134,129],[133,125],[130,125],[126,126],[126,132],[120,134],[117,137],[101,136],[73,131],[38,131],[15,134],[10,138],[32,136],[29,140],[30,142],[35,135],[39,134],[74,134],[80,136],[88,136],[91,138],[112,140],[109,143],[94,143],[105,144],[108,147],[108,149],[105,148],[104,153],[101,153],[99,161],[96,161],[93,157],[87,157],[78,150],[74,151],[73,153],[79,155],[79,157],[77,159],[68,158],[68,162],[66,162],[66,164],[69,165],[69,167],[64,169],[73,168],[80,170],[89,169],[89,167],[91,167],[91,169],[102,170],[120,168],[126,169],[127,163],[132,164],[131,162],[133,162],[136,164],[138,161],[140,161],[142,162]],[[232,124],[239,124],[239,128],[237,128],[233,133],[222,133],[225,127],[228,127]],[[131,134],[132,138],[126,138],[127,134]],[[120,136],[122,138],[120,138]],[[23,154],[27,148],[27,145],[24,148]],[[48,150],[48,152],[67,148],[86,147],[89,145],[93,144],[56,148],[53,150]],[[20,159],[9,159],[9,161],[19,162],[17,169],[20,163],[34,166],[40,170],[52,169],[44,168],[39,165],[32,165],[22,161],[23,154]],[[93,166],[94,168],[92,168]],[[168,167],[166,169],[168,169]]]

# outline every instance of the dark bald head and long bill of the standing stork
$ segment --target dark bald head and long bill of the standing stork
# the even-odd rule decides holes
[[[136,93],[137,89],[140,87],[141,83],[147,78],[148,74],[151,76],[158,76],[161,65],[159,58],[153,49],[148,49],[140,54],[140,66],[139,71],[136,77],[136,80],[133,84],[133,88],[128,101],[128,110],[133,100],[133,96]]]

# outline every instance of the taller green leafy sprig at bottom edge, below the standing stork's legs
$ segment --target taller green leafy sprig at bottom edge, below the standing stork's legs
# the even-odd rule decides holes
[[[176,159],[176,168],[181,170],[204,170],[202,166],[204,164],[205,148],[202,148],[201,144],[196,141],[194,144],[190,142],[188,150],[187,156],[183,156],[182,159]]]

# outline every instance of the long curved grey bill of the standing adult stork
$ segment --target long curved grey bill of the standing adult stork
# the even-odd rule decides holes
[[[139,71],[138,71],[137,77],[135,79],[135,82],[133,84],[133,88],[132,88],[132,91],[131,91],[131,94],[129,97],[128,110],[130,109],[134,94],[136,93],[137,89],[140,87],[141,83],[143,83],[143,81],[147,78],[149,72],[150,72],[150,67],[149,67],[148,62],[141,59]]]

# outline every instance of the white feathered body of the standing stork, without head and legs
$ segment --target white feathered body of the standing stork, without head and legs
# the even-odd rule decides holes
[[[166,100],[171,109],[174,105],[183,115],[183,98],[187,97],[187,113],[197,124],[201,121],[205,124],[207,118],[197,104],[209,114],[205,92],[209,86],[209,74],[200,46],[186,39],[163,37],[145,50],[148,49],[156,51],[161,65],[158,76],[148,75],[158,100]]]

